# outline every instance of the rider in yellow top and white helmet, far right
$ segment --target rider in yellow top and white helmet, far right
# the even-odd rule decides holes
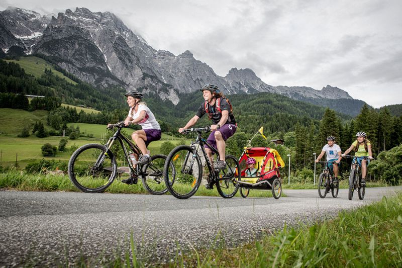
[[[367,134],[365,132],[357,132],[356,140],[350,145],[349,149],[342,154],[344,156],[354,149],[355,156],[357,156],[355,159],[359,166],[361,166],[361,186],[363,187],[366,186],[367,166],[370,163],[370,159],[373,159],[371,143],[366,137]],[[364,159],[363,156],[368,156],[369,159]]]

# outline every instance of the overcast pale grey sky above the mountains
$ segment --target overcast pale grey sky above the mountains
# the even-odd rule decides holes
[[[271,85],[330,84],[373,107],[402,103],[402,1],[0,0],[41,14],[110,11],[155,49],[185,50],[218,75],[251,68]],[[40,3],[40,4],[39,4]]]

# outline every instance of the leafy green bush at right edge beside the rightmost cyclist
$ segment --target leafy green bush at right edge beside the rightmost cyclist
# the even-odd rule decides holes
[[[388,184],[399,185],[402,177],[402,144],[380,152],[368,168]]]

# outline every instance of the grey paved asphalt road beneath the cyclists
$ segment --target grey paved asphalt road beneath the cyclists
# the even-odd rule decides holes
[[[317,190],[284,190],[287,197],[278,200],[1,191],[0,266],[112,255],[116,248],[127,248],[130,233],[141,258],[169,261],[177,243],[181,250],[222,241],[238,245],[285,223],[333,217],[395,191],[402,187],[368,188],[362,201],[357,193],[349,201],[346,189],[337,199],[321,199]]]

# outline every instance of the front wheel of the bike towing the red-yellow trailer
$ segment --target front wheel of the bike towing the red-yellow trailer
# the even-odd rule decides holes
[[[178,199],[190,198],[197,192],[203,176],[201,160],[194,148],[180,145],[166,158],[163,175],[165,185],[172,196]]]

